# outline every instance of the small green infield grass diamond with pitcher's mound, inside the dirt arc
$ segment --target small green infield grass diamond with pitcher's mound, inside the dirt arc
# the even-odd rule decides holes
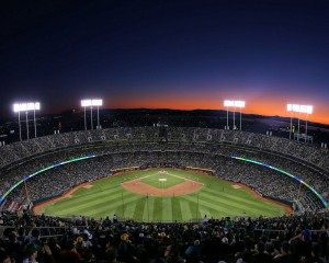
[[[161,179],[162,181],[160,181]],[[169,188],[184,182],[184,179],[169,173],[155,173],[154,175],[143,178],[140,181],[156,188]]]

